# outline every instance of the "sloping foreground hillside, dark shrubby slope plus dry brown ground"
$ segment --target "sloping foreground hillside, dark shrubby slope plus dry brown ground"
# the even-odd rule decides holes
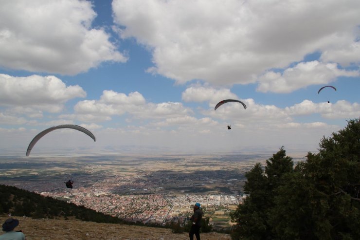
[[[169,228],[138,226],[72,203],[43,197],[14,186],[0,185],[0,223],[11,212],[27,240],[185,240]],[[140,224],[140,223],[139,223]],[[1,234],[1,232],[0,232]],[[230,240],[230,235],[201,234],[206,240]]]

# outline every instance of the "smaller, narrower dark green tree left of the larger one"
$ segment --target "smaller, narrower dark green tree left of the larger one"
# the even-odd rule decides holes
[[[284,147],[266,161],[265,172],[260,163],[245,174],[245,193],[250,194],[242,205],[231,214],[237,222],[232,233],[233,239],[272,239],[269,225],[269,209],[273,206],[274,193],[282,183],[283,176],[293,172],[292,159],[286,156]]]

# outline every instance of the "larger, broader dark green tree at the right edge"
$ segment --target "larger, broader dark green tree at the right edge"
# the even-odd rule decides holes
[[[360,239],[360,123],[320,142],[319,153],[278,188],[270,225],[277,239]]]

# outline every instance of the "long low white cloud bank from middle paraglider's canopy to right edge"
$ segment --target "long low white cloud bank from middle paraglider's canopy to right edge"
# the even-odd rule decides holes
[[[295,123],[294,118],[302,115],[320,114],[327,119],[357,118],[360,116],[360,104],[349,103],[345,100],[336,103],[314,103],[310,100],[304,100],[285,108],[258,104],[252,98],[241,99],[241,101],[247,105],[247,109],[244,109],[239,103],[227,103],[216,111],[211,107],[208,110],[202,110],[201,113],[214,119],[221,119],[229,124],[261,128],[270,125],[276,127],[279,124],[287,128],[296,128],[300,126],[300,123]]]

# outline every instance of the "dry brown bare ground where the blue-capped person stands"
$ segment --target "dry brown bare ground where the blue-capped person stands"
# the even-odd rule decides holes
[[[1,216],[0,223],[8,218]],[[22,230],[27,240],[188,240],[188,233],[173,234],[171,229],[83,222],[78,220],[31,219],[19,220],[15,230]],[[0,231],[0,234],[3,232]],[[202,233],[201,240],[231,240],[228,234]],[[194,236],[194,239],[195,236]]]

